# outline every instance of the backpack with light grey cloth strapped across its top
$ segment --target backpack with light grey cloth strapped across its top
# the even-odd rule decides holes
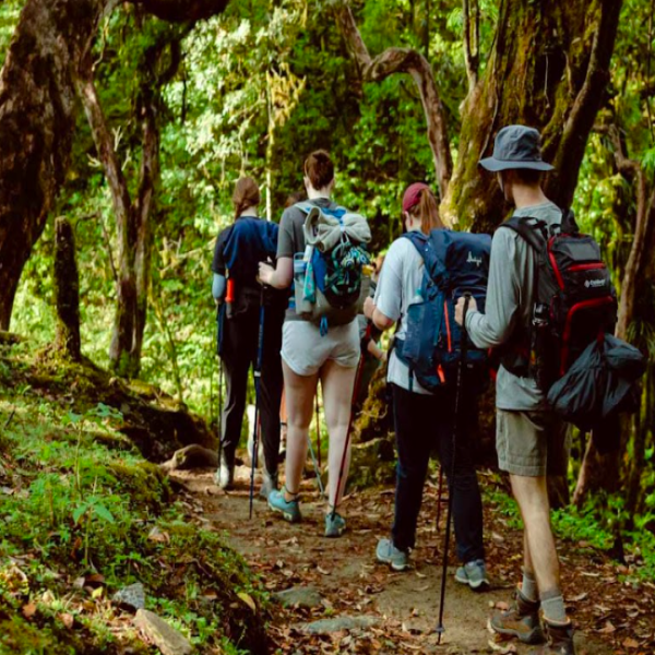
[[[332,325],[355,320],[361,295],[361,267],[370,262],[371,239],[364,216],[344,207],[296,205],[307,214],[306,250],[294,257],[296,313],[327,333]]]

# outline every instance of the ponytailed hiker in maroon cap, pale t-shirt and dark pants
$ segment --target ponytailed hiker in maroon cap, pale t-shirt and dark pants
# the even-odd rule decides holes
[[[407,233],[429,236],[443,228],[437,199],[421,182],[408,187],[403,196],[403,217]],[[475,591],[488,586],[483,545],[483,503],[474,468],[471,436],[475,429],[475,397],[464,395],[457,441],[453,453],[455,389],[425,389],[398,354],[398,344],[407,334],[408,308],[420,300],[418,291],[424,276],[424,259],[406,237],[396,239],[389,249],[374,300],[365,310],[380,330],[400,326],[389,359],[388,383],[391,386],[394,429],[398,451],[395,516],[390,538],[378,543],[378,561],[396,571],[409,567],[409,551],[416,541],[416,524],[428,473],[430,451],[437,448],[441,466],[449,478],[455,455],[455,472],[449,479],[453,495],[457,556],[463,565],[456,579]],[[418,298],[417,298],[418,296]]]

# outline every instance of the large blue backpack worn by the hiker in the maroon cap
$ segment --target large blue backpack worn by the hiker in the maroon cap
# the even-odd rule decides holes
[[[433,229],[429,236],[418,231],[404,235],[425,263],[419,290],[420,301],[407,309],[407,332],[395,340],[395,352],[428,391],[452,388],[457,381],[462,359],[462,329],[455,322],[455,305],[471,293],[480,311],[485,310],[491,237]],[[487,352],[468,338],[465,372],[467,389],[483,390],[488,376]]]

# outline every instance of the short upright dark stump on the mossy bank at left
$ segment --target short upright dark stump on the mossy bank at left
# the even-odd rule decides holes
[[[73,361],[82,358],[80,340],[80,276],[75,236],[70,221],[55,223],[55,297],[57,303],[56,348]]]

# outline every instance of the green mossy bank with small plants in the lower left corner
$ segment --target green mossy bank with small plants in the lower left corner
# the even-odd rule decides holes
[[[66,393],[37,371],[27,345],[0,346],[0,655],[156,653],[111,603],[135,582],[198,652],[265,653],[266,596],[243,559],[84,393],[83,368]]]

